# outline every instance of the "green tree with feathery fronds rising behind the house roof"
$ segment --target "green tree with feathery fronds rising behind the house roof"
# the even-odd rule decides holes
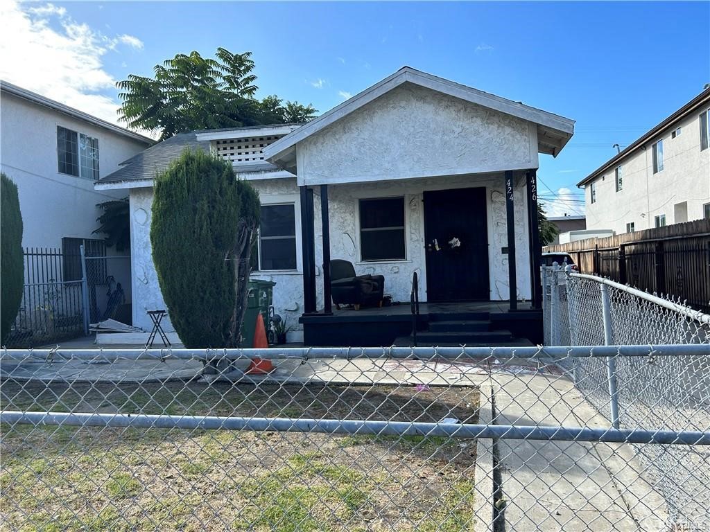
[[[197,129],[238,128],[315,118],[312,105],[254,97],[251,52],[217,48],[214,58],[178,54],[155,65],[154,77],[129,75],[118,82],[121,120],[131,128],[160,132],[160,140]]]

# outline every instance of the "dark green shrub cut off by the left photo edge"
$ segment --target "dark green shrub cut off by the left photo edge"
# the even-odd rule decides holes
[[[0,173],[0,343],[5,343],[22,301],[25,270],[17,185]]]

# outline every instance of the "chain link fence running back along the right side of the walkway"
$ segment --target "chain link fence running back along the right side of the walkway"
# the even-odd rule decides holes
[[[710,353],[710,316],[671,297],[608,279],[546,268],[545,314],[550,345],[700,345]],[[564,365],[584,398],[618,428],[710,427],[710,368],[705,356],[574,359]],[[679,522],[710,528],[707,450],[635,446]],[[684,530],[684,528],[680,528]]]

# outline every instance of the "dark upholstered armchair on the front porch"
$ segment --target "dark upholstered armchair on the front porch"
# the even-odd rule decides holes
[[[382,275],[355,275],[352,262],[330,261],[330,292],[336,309],[340,305],[382,306],[385,278]]]

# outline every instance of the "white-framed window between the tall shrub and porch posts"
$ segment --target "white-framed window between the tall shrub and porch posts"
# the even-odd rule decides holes
[[[261,206],[258,238],[259,270],[296,270],[294,204]]]

